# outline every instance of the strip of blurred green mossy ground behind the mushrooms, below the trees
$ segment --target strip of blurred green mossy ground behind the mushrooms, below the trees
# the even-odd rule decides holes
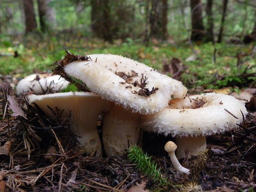
[[[70,36],[71,37],[71,36]],[[14,41],[15,42],[15,41]],[[179,58],[183,64],[179,80],[186,87],[221,88],[226,86],[246,87],[255,82],[255,75],[245,78],[243,72],[256,73],[256,60],[250,55],[253,45],[235,44],[170,44],[165,42],[151,43],[148,47],[141,40],[126,38],[108,44],[96,38],[65,38],[44,36],[35,39],[35,35],[27,37],[24,43],[13,44],[11,39],[0,41],[0,53],[6,53],[0,59],[0,74],[23,77],[34,72],[51,71],[55,62],[64,58],[67,49],[76,55],[94,53],[116,54],[133,58],[159,71],[163,71],[163,63],[171,63],[172,58]],[[17,51],[19,56],[14,57]],[[192,61],[186,59],[197,52]],[[237,55],[243,54],[238,64]],[[172,76],[171,73],[168,75]]]

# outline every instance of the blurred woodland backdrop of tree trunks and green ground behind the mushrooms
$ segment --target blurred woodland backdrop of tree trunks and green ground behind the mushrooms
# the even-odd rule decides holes
[[[80,55],[123,55],[161,71],[178,58],[182,70],[176,79],[187,87],[247,86],[253,75],[242,73],[255,72],[256,4],[230,0],[224,12],[225,2],[1,0],[0,74],[21,78],[50,71],[68,49]],[[34,18],[35,25],[31,20],[26,23],[26,3],[32,3],[35,15],[29,18]],[[193,3],[197,6],[192,7]],[[200,15],[193,17],[193,12],[201,13],[201,26],[192,26],[193,20],[200,23]],[[209,30],[212,39],[207,36]],[[174,75],[170,70],[166,73]]]

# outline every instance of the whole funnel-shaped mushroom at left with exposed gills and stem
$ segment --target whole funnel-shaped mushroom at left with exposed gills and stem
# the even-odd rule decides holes
[[[90,153],[90,156],[102,155],[102,144],[97,131],[97,118],[99,114],[109,110],[110,104],[95,93],[68,92],[48,95],[28,95],[29,104],[36,104],[47,116],[52,117],[51,110],[56,107],[64,110],[65,114],[71,112],[70,128],[77,136],[81,152]]]

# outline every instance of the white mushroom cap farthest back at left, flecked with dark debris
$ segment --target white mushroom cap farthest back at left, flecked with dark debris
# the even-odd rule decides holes
[[[19,81],[16,87],[16,94],[21,96],[31,90],[33,90],[36,95],[56,93],[67,88],[69,84],[70,82],[59,75],[52,75],[52,73],[35,73]]]

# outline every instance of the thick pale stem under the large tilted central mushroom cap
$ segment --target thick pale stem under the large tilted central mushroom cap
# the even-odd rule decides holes
[[[131,145],[141,145],[140,116],[114,103],[104,114],[102,139],[108,156],[124,155]]]

